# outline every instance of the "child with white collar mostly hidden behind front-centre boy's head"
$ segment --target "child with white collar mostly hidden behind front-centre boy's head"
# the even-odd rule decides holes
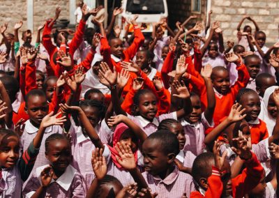
[[[180,151],[179,154],[176,155],[176,160],[174,162],[176,166],[179,167],[179,171],[191,174],[196,156],[191,151],[184,151],[186,135],[181,123],[174,119],[165,119],[160,122],[158,130],[169,130],[176,135],[179,140]]]

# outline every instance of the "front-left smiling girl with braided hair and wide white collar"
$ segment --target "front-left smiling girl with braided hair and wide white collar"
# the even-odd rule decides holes
[[[82,175],[70,165],[73,156],[66,136],[47,137],[45,158],[50,165],[36,169],[22,192],[24,197],[85,197]]]

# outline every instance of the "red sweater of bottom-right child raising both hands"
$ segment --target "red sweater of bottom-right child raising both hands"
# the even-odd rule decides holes
[[[254,153],[252,153],[252,158],[245,162],[245,165],[246,168],[243,169],[243,172],[239,176],[232,178],[232,197],[244,197],[244,195],[256,187],[264,174],[264,168]],[[220,180],[216,177],[212,175],[209,177],[209,188],[206,190],[205,196],[200,192],[192,192],[190,197],[220,197],[222,194],[220,189],[223,189],[223,183],[220,183]]]

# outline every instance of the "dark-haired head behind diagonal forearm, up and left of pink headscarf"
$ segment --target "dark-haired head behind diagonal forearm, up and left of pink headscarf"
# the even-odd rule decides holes
[[[103,102],[98,100],[82,100],[80,101],[80,107],[93,127],[96,127],[104,119],[105,112],[107,111]]]

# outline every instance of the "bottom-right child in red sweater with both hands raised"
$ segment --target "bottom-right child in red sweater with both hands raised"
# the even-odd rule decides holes
[[[231,178],[231,167],[225,160],[227,153],[223,153],[222,157],[218,156],[220,155],[220,142],[217,141],[214,145],[214,155],[202,153],[195,159],[193,176],[199,185],[199,192],[193,192],[190,197],[220,197],[220,195],[243,197],[259,183],[264,174],[259,160],[250,151],[241,132],[239,137],[234,138],[234,141],[237,147],[233,147],[233,150],[241,160],[245,160],[246,169],[239,176]],[[220,186],[223,186],[223,190]]]

